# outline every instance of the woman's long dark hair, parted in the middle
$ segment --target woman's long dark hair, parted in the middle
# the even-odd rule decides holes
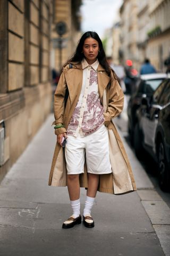
[[[98,36],[98,34],[94,31],[87,31],[86,33],[84,33],[82,35],[82,37],[80,38],[80,40],[78,42],[78,46],[77,46],[77,49],[75,50],[75,53],[73,54],[71,59],[67,61],[67,63],[70,63],[70,62],[80,63],[82,61],[82,59],[84,58],[84,54],[82,52],[84,41],[89,37],[94,38],[98,42],[100,50],[98,52],[97,59],[98,59],[100,65],[106,70],[107,74],[110,76],[111,68],[109,68],[109,65],[107,63],[106,54],[105,54],[105,51],[103,48],[103,44],[102,44],[101,39]]]

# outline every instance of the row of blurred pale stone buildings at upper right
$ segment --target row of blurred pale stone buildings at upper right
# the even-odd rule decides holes
[[[170,54],[170,1],[124,0],[120,9],[123,62],[131,59],[138,70],[149,58],[158,71],[165,71]]]

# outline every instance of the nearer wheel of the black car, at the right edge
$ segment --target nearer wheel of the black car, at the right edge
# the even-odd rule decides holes
[[[165,155],[165,148],[162,141],[158,145],[158,166],[159,166],[159,186],[163,191],[168,191],[169,177],[168,164]]]

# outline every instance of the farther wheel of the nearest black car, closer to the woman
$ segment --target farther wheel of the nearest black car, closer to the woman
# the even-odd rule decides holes
[[[143,154],[143,146],[142,146],[142,133],[139,129],[139,124],[136,124],[134,127],[134,137],[133,137],[133,145],[136,156],[141,159]]]

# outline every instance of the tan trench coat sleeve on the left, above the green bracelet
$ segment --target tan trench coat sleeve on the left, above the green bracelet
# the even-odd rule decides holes
[[[63,115],[64,115],[64,98],[66,91],[66,81],[64,71],[62,72],[56,91],[54,93],[54,117],[55,121],[53,124],[63,124]],[[55,134],[61,134],[66,132],[65,127],[55,129]]]

